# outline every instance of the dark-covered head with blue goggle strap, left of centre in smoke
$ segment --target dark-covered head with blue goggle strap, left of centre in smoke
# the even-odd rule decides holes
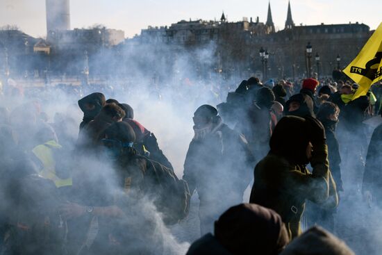
[[[135,154],[133,144],[135,132],[126,122],[115,122],[104,131],[105,138],[101,140],[108,158],[117,160],[119,156]]]

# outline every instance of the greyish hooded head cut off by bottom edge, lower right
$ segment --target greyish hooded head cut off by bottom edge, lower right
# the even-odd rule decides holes
[[[322,229],[312,227],[294,239],[280,255],[354,255],[339,238]]]

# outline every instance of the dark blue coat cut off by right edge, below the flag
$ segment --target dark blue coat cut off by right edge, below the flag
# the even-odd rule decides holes
[[[367,149],[365,172],[363,173],[363,190],[372,192],[373,197],[381,203],[382,195],[382,124],[374,129]]]

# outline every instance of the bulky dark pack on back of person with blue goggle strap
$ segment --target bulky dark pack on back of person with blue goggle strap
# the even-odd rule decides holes
[[[174,170],[138,154],[122,155],[116,164],[119,187],[124,188],[124,195],[131,192],[138,196],[134,199],[153,199],[167,224],[174,224],[188,215],[188,184],[179,180]]]

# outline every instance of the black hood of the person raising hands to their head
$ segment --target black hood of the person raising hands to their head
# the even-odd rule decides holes
[[[274,128],[269,147],[272,154],[285,157],[290,163],[307,164],[306,147],[309,126],[301,117],[285,116]]]

